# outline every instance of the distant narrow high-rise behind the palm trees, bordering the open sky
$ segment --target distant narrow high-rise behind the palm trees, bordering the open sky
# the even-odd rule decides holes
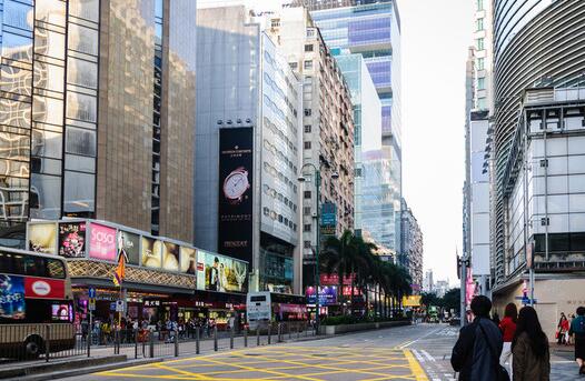
[[[408,270],[413,279],[413,291],[418,292],[423,288],[423,232],[405,200],[403,200],[401,210],[400,247],[403,250],[398,254],[398,264]]]

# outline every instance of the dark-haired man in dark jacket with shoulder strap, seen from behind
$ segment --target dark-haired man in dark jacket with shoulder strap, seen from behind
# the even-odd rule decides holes
[[[472,300],[475,319],[459,331],[459,339],[450,357],[453,369],[459,372],[459,381],[497,380],[503,340],[499,328],[489,319],[489,310],[492,302],[488,298],[479,295]]]

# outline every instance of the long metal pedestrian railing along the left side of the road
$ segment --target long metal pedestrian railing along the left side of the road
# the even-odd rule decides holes
[[[218,331],[215,327],[189,331],[115,329],[106,333],[79,333],[72,324],[33,324],[36,330],[24,325],[0,325],[0,358],[11,362],[111,354],[155,359],[269,345],[316,335],[314,328],[305,322],[271,323],[252,332],[248,329]]]

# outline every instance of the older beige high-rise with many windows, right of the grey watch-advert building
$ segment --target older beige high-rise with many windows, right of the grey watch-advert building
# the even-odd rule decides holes
[[[303,80],[301,168],[307,179],[301,189],[303,253],[304,282],[310,285],[315,284],[317,229],[321,239],[354,229],[355,128],[350,90],[305,8],[282,8],[257,20],[278,41],[290,69]],[[319,199],[315,169],[320,173]],[[320,208],[321,221],[316,219],[316,208]]]

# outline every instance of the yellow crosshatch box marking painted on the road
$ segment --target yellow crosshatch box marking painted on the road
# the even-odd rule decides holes
[[[278,345],[214,353],[97,373],[147,380],[428,381],[407,349]]]

